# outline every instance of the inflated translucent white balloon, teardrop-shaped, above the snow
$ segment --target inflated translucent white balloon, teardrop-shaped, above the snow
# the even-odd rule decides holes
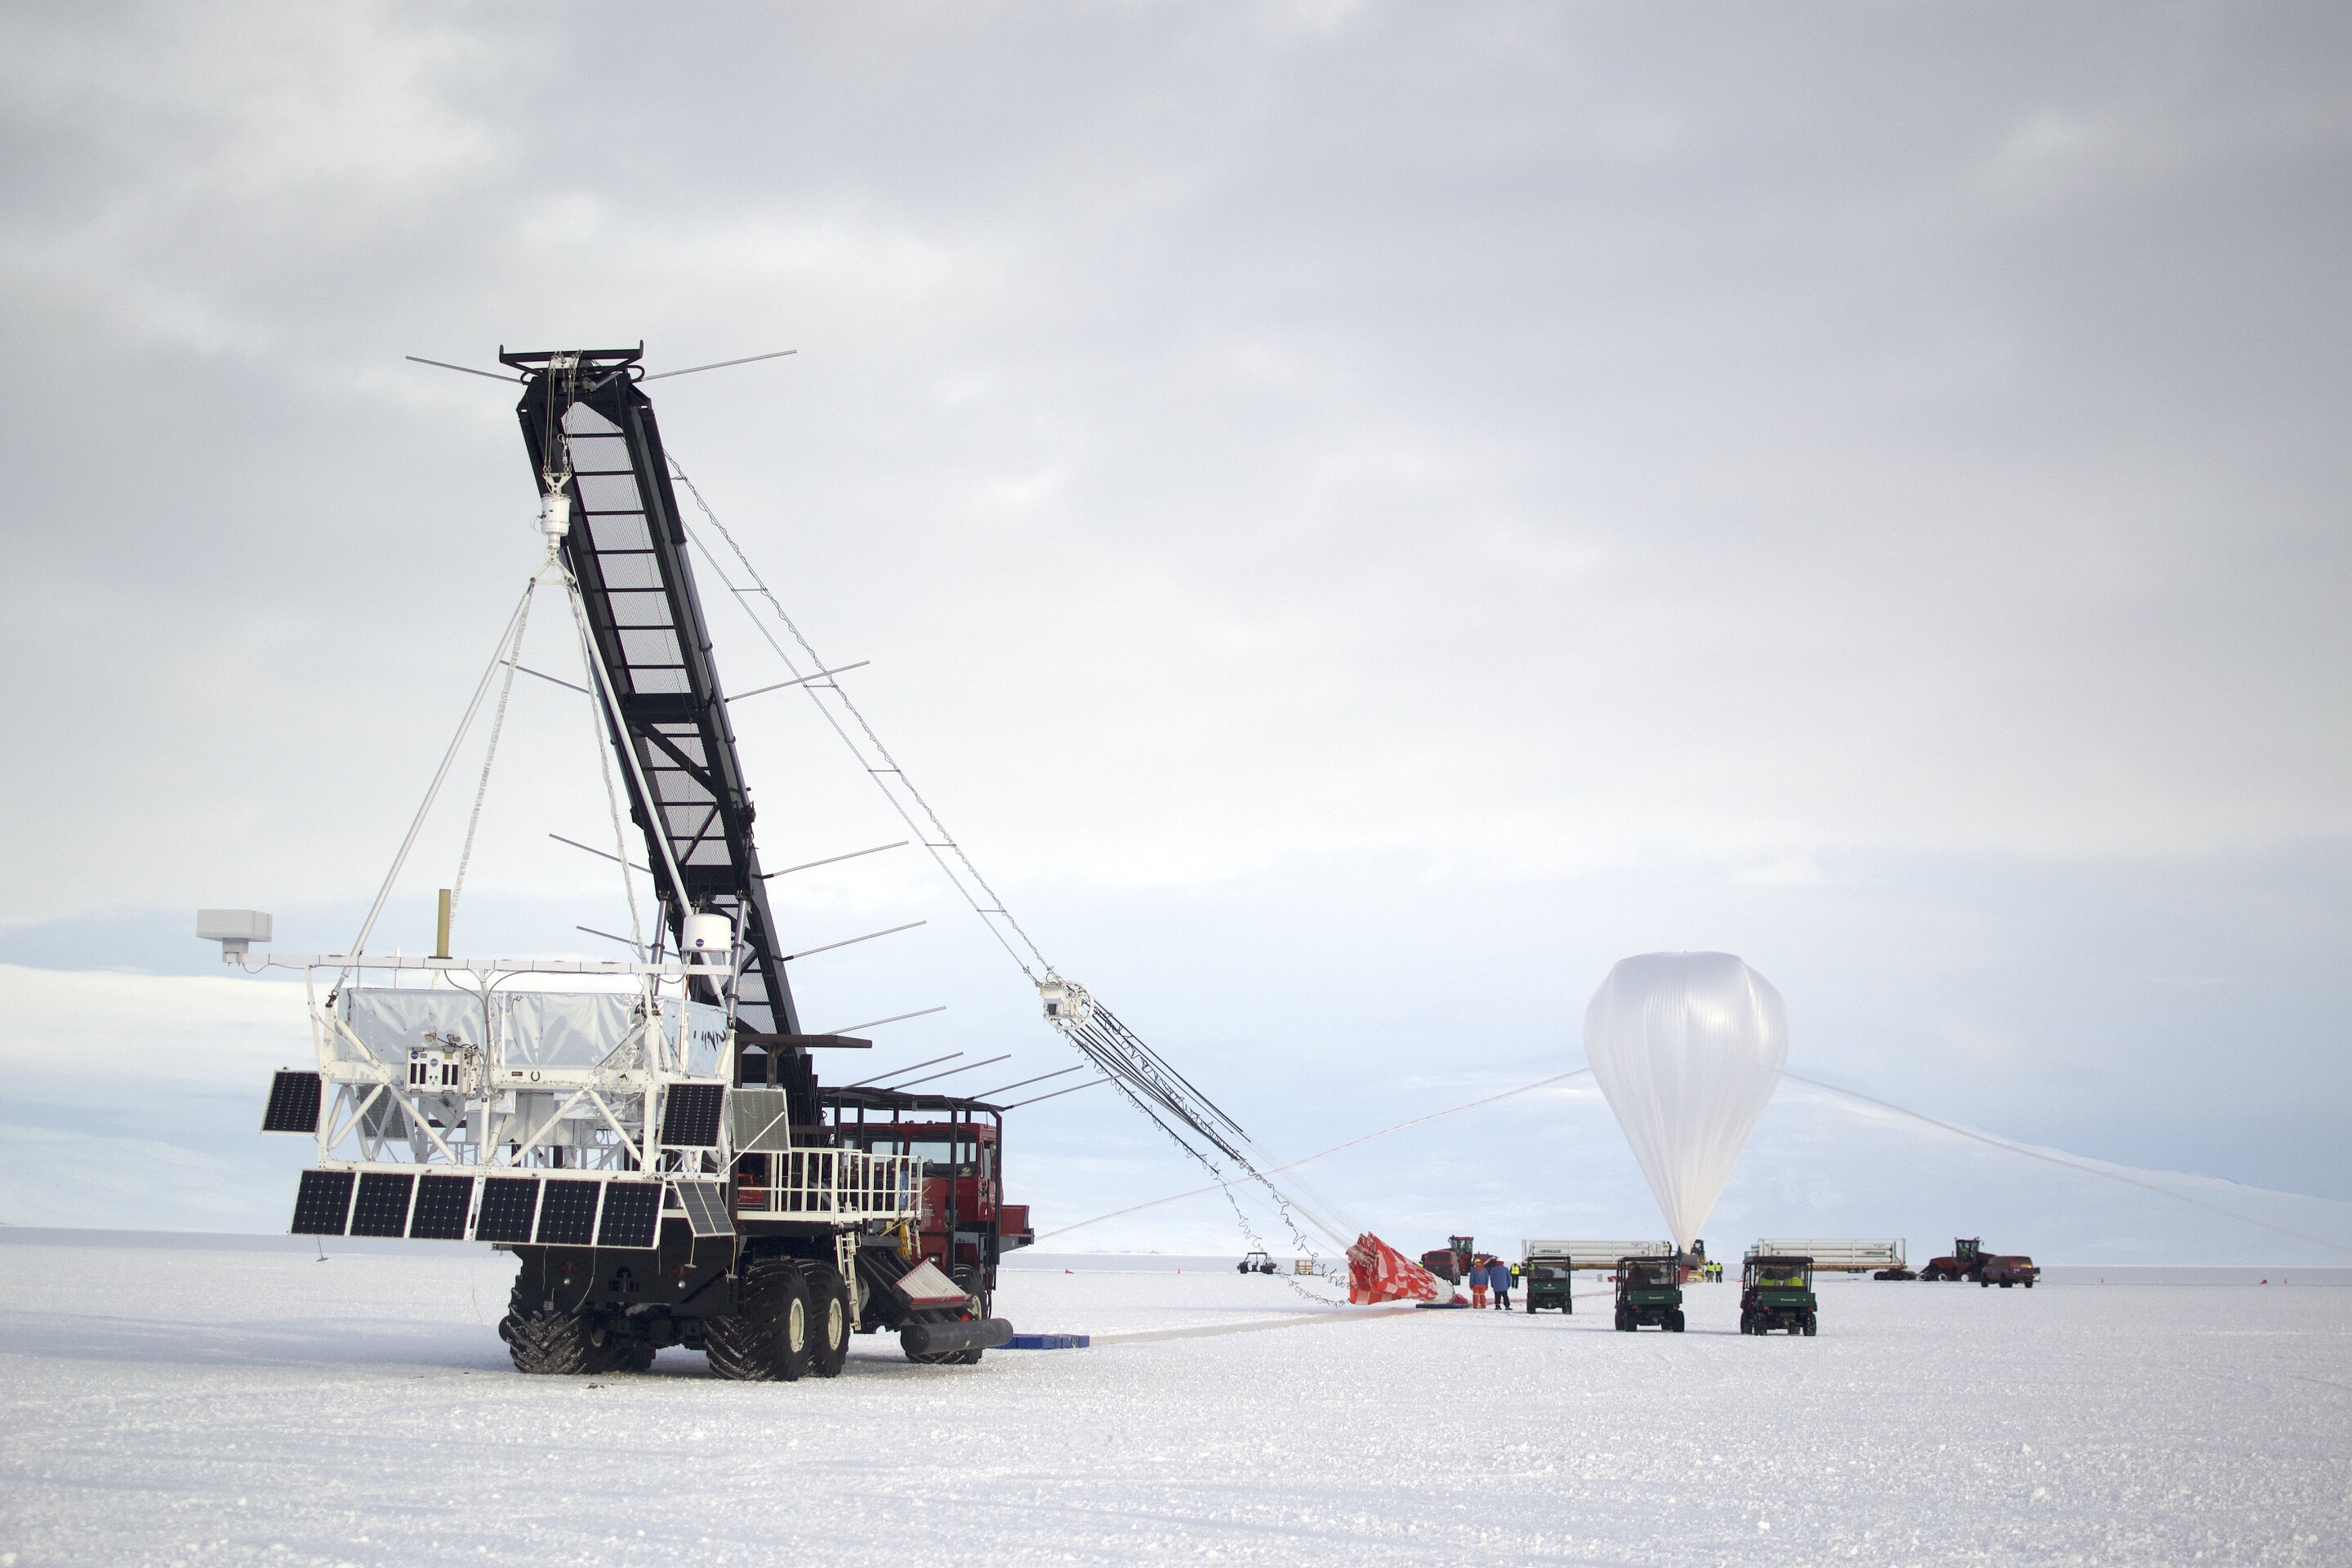
[[[1729,952],[1621,959],[1585,1009],[1585,1060],[1689,1251],[1788,1063],[1788,1011]]]

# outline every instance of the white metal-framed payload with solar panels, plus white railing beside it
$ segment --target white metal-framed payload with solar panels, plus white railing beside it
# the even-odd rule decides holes
[[[793,1152],[783,1093],[748,1088],[729,1103],[731,1011],[689,994],[731,978],[724,959],[268,961],[303,969],[318,1048],[315,1072],[275,1077],[263,1117],[263,1131],[318,1138],[296,1199],[301,1234],[652,1246],[663,1213],[701,1237],[734,1234],[724,1182],[748,1150],[781,1159],[739,1194],[746,1220],[866,1227],[920,1213],[920,1161]],[[322,971],[336,976],[325,997]],[[369,971],[449,985],[346,983]],[[524,976],[626,990],[503,990]]]

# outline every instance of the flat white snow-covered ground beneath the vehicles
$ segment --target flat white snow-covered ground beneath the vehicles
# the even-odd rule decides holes
[[[0,1568],[2343,1563],[2352,1288],[1825,1281],[1816,1340],[1023,1258],[835,1382],[517,1378],[477,1248],[0,1232]],[[1176,1272],[1176,1269],[1183,1272]],[[1303,1291],[1324,1286],[1303,1281]],[[1362,1321],[1348,1321],[1359,1316]]]

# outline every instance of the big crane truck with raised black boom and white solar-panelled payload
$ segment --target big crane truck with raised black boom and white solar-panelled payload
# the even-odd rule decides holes
[[[445,896],[435,957],[367,954],[367,931],[270,954],[303,969],[318,1058],[263,1114],[318,1145],[292,1229],[513,1253],[499,1333],[524,1373],[680,1345],[727,1378],[830,1378],[880,1331],[971,1363],[1011,1338],[995,1272],[1030,1239],[1002,1107],[818,1084],[821,1051],[870,1041],[802,1030],[640,353],[501,360],[548,538],[534,583],[576,616],[656,933],[630,961],[447,957]],[[268,917],[209,910],[200,936],[238,961]]]

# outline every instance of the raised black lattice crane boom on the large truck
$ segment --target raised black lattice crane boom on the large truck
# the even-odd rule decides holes
[[[814,1074],[767,905],[753,799],[727,696],[710,656],[687,531],[654,404],[637,388],[640,348],[499,353],[524,374],[522,442],[543,496],[569,501],[562,552],[604,670],[593,693],[621,750],[630,818],[670,938],[691,912],[729,917],[743,943],[736,1018],[764,1037],[769,1081],[814,1124]],[[649,799],[652,797],[652,799]],[[682,882],[682,886],[680,886]]]

